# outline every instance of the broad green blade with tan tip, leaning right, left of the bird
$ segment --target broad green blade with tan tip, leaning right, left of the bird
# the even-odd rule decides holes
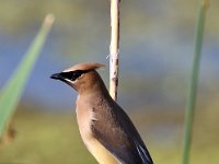
[[[54,16],[48,14],[33,44],[30,46],[13,75],[2,90],[0,97],[0,139],[3,137],[5,128],[15,110],[22,91],[43,48],[53,22]]]

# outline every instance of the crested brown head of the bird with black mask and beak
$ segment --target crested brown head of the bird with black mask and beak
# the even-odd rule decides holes
[[[104,67],[104,65],[93,62],[79,63],[60,73],[55,73],[50,78],[60,80],[72,86],[76,91],[81,92],[97,84],[99,81],[102,82],[99,73],[95,71],[101,67]]]

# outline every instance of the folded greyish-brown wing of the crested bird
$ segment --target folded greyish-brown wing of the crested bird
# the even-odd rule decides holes
[[[119,113],[119,114],[116,114]],[[117,116],[119,115],[119,119]],[[123,164],[152,164],[140,136],[128,116],[118,109],[92,124],[93,136]],[[105,119],[105,120],[101,120]]]

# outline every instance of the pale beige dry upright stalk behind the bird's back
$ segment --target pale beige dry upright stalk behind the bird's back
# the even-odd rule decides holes
[[[111,0],[110,94],[115,101],[118,85],[119,3],[120,0]]]

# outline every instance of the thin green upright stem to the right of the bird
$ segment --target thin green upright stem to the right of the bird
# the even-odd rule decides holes
[[[199,61],[200,61],[200,51],[203,45],[203,35],[205,26],[206,11],[209,5],[208,0],[201,0],[198,7],[198,19],[196,24],[196,34],[195,34],[195,50],[193,58],[193,68],[191,74],[191,83],[188,87],[187,104],[185,109],[185,130],[184,130],[184,143],[183,143],[183,164],[188,164],[189,162],[189,152],[192,143],[192,133],[193,133],[193,120],[195,115],[195,103],[196,103],[196,93],[197,93],[197,83],[198,83],[198,73],[199,73]]]

